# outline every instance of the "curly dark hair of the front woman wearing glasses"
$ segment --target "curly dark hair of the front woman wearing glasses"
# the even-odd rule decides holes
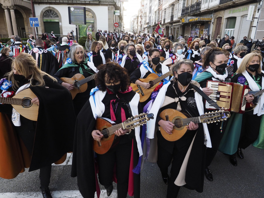
[[[99,72],[97,73],[97,77],[95,79],[95,85],[99,88],[100,91],[106,91],[106,85],[104,82],[104,77],[107,74],[107,79],[109,80],[117,80],[120,79],[121,83],[121,91],[126,91],[129,86],[129,75],[127,70],[121,67],[118,63],[115,62],[107,62],[104,65],[99,65],[97,67]]]

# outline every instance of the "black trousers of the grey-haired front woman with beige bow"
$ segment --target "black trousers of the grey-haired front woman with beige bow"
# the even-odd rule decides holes
[[[162,175],[168,173],[168,167],[172,163],[170,170],[170,180],[167,188],[167,198],[175,198],[178,195],[180,186],[174,184],[182,166],[182,162],[186,156],[192,139],[196,131],[187,131],[182,138],[175,142],[167,141],[157,132],[158,137],[158,167]],[[172,160],[172,162],[171,162]]]

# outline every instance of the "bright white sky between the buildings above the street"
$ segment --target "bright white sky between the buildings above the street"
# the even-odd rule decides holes
[[[123,7],[124,7],[124,13],[123,13],[124,27],[130,28],[130,20],[132,16],[138,15],[138,9],[140,8],[140,0],[128,0],[128,2],[123,2]]]

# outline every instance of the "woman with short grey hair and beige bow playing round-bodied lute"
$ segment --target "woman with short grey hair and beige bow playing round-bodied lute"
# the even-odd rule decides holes
[[[193,86],[199,87],[199,84],[192,81],[193,70],[192,61],[185,59],[177,61],[172,66],[175,78],[163,85],[154,101],[153,108],[150,110],[154,114],[154,120],[150,121],[148,138],[154,137],[155,125],[159,125],[167,133],[172,134],[174,124],[171,120],[165,121],[160,118],[160,112],[165,109],[182,111],[191,117],[204,113],[202,96],[198,92],[194,92]],[[167,141],[163,138],[160,131],[157,131],[157,164],[160,168],[163,181],[165,184],[168,184],[167,198],[177,197],[180,186],[185,184],[190,189],[196,189],[198,192],[203,191],[204,165],[202,161],[205,154],[205,145],[211,145],[207,125],[190,122],[186,127],[189,131],[177,141]],[[191,151],[188,158],[187,150],[189,148],[191,148]],[[183,163],[185,157],[188,158],[187,164]],[[169,177],[168,167],[171,160],[172,167]],[[187,169],[182,175],[180,169],[183,167],[187,167]],[[177,185],[175,185],[175,182]]]

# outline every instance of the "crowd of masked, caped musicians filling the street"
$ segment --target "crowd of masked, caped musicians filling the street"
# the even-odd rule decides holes
[[[27,45],[13,35],[11,44],[2,48],[1,97],[30,89],[34,94],[31,103],[39,109],[33,121],[18,113],[12,103],[0,104],[0,122],[8,126],[0,133],[16,137],[7,138],[4,145],[21,139],[18,153],[29,161],[24,160],[20,169],[7,168],[0,177],[15,178],[25,167],[40,169],[41,192],[51,198],[51,164],[62,163],[65,154],[73,152],[71,176],[77,177],[83,197],[92,198],[95,192],[99,196],[97,173],[108,196],[114,181],[119,198],[127,194],[140,197],[140,170],[148,159],[157,163],[170,198],[177,197],[181,186],[202,192],[204,175],[213,181],[209,167],[218,150],[237,166],[236,155],[246,157],[242,149],[251,144],[264,149],[264,99],[250,93],[243,96],[250,106],[243,114],[231,112],[229,119],[224,114],[227,120],[222,123],[188,121],[182,126],[187,131],[174,141],[164,135],[176,133],[177,124],[163,118],[163,112],[175,117],[180,111],[194,118],[211,111],[205,108],[213,93],[207,81],[243,84],[252,91],[264,89],[263,49],[252,49],[252,39],[244,37],[236,44],[233,36],[218,35],[211,41],[209,35],[196,34],[194,38],[189,35],[187,42],[180,35],[172,43],[173,35],[98,30],[95,39],[88,34],[82,46],[73,32],[58,38],[53,32],[36,39],[29,35]],[[99,118],[125,123],[140,113],[152,113],[154,119],[132,130],[114,128],[115,146],[104,154],[94,152],[94,144],[110,137],[99,128]],[[144,145],[153,138],[157,141]],[[16,162],[15,157],[6,161]],[[5,165],[0,162],[0,167]]]

